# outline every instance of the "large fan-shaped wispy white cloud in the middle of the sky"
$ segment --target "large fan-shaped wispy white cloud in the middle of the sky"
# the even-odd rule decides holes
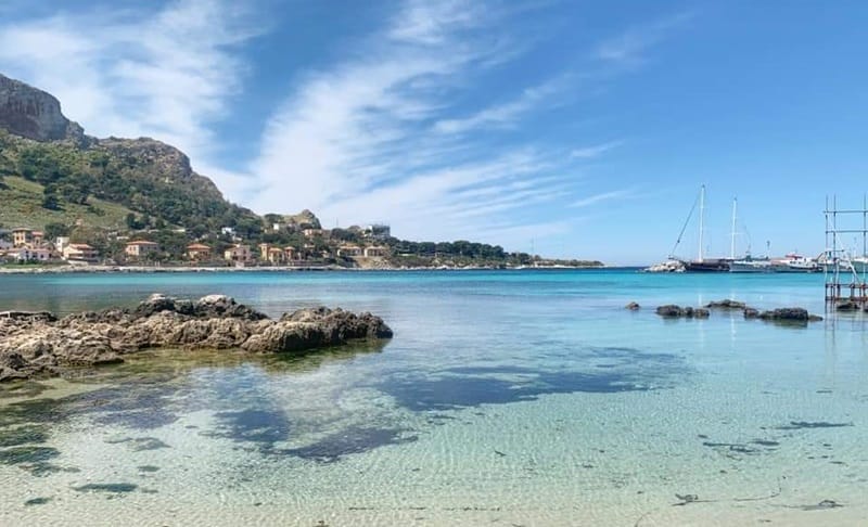
[[[452,117],[467,78],[498,64],[499,50],[477,39],[493,30],[484,8],[409,2],[370,37],[365,59],[309,73],[266,127],[251,168],[256,208],[311,207],[327,224],[385,220],[407,237],[506,242],[522,210],[569,195],[569,167],[548,150],[459,137],[514,123],[554,89]]]

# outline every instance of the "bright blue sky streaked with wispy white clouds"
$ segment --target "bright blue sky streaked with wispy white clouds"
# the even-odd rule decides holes
[[[702,184],[706,254],[733,198],[737,253],[824,249],[826,196],[868,191],[867,26],[855,0],[0,0],[0,73],[259,214],[642,265]]]

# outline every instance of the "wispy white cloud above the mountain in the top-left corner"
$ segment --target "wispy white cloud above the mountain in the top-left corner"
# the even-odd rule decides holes
[[[261,27],[228,0],[8,18],[0,69],[56,95],[89,133],[151,136],[203,163],[241,90],[235,51]]]

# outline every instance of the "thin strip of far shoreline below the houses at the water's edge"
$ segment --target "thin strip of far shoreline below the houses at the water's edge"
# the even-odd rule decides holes
[[[0,267],[2,274],[87,274],[87,273],[224,273],[224,272],[323,272],[323,271],[547,271],[608,269],[608,266],[546,266],[546,267],[340,267],[340,266],[263,266],[263,267],[156,267],[156,266],[34,266]]]

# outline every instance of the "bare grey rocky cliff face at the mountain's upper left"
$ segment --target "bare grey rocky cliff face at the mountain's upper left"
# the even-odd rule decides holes
[[[0,75],[0,128],[35,141],[82,141],[84,129],[61,113],[54,97]]]

